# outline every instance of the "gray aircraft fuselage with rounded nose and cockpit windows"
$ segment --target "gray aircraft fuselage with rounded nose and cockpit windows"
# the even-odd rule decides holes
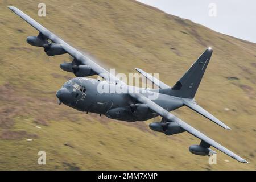
[[[141,90],[133,86],[130,90]],[[131,89],[132,88],[132,89]],[[108,118],[122,121],[146,121],[158,116],[144,107],[132,108],[132,98],[123,92],[128,88],[121,89],[121,86],[114,82],[101,81],[92,78],[73,78],[65,82],[63,87],[57,91],[56,96],[63,104],[90,113],[104,114]],[[103,92],[105,90],[105,92]],[[143,90],[144,96],[152,97],[152,101],[164,109],[171,111],[183,106],[183,102],[178,97],[166,94]]]

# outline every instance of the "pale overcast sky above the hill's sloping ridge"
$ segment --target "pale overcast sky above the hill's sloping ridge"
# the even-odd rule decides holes
[[[137,0],[223,34],[256,43],[255,0]]]

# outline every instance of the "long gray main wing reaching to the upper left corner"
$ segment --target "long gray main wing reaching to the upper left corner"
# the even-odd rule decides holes
[[[15,14],[17,14],[18,16],[20,16],[20,18],[24,19],[28,24],[30,24],[32,27],[34,27],[36,30],[38,30],[45,38],[48,38],[49,40],[51,40],[53,43],[57,43],[57,44],[61,44],[61,46],[63,47],[63,49],[69,53],[69,55],[71,55],[72,57],[74,57],[76,59],[77,62],[79,62],[79,64],[82,65],[89,65],[90,68],[97,73],[97,75],[105,78],[105,80],[109,80],[109,81],[114,81],[114,82],[119,82],[121,80],[119,80],[118,78],[116,78],[113,75],[110,75],[110,73],[108,71],[106,71],[106,69],[100,67],[100,65],[94,63],[92,60],[90,60],[88,57],[86,57],[85,55],[83,55],[81,52],[77,51],[77,49],[73,48],[72,46],[70,46],[68,43],[64,42],[62,39],[60,39],[58,36],[56,36],[55,34],[53,34],[51,31],[47,30],[46,28],[44,28],[41,24],[39,24],[38,22],[36,22],[34,19],[32,19],[30,16],[26,15],[25,13],[23,13],[21,10],[19,10],[18,8],[14,7],[14,6],[9,6],[9,9],[11,11],[13,11]]]

